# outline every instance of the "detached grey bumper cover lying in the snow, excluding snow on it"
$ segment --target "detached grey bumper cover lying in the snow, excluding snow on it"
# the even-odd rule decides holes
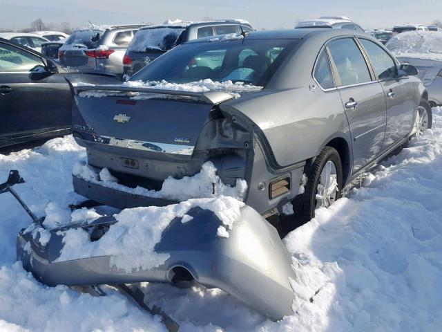
[[[160,267],[133,270],[127,273],[110,264],[110,256],[55,262],[63,248],[59,230],[51,230],[46,246],[21,232],[17,238],[17,258],[26,270],[48,286],[66,284],[86,286],[124,284],[131,282],[171,282],[173,268],[185,268],[196,282],[208,288],[221,288],[256,308],[273,320],[291,315],[295,279],[291,257],[278,237],[278,232],[249,206],[241,210],[241,219],[229,237],[218,237],[220,220],[209,210],[194,208],[188,212],[193,220],[171,222],[162,233],[156,252],[170,257]],[[112,216],[96,219],[90,224],[67,228],[112,227]],[[64,228],[66,230],[66,227]],[[99,241],[99,240],[97,240]]]

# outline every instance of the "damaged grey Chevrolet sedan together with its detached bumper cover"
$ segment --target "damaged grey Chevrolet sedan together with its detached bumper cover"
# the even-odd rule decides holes
[[[269,220],[308,221],[405,145],[428,111],[413,69],[367,35],[299,29],[200,39],[124,84],[77,86],[89,201],[23,230],[19,259],[48,285],[195,281],[291,315],[298,275]]]

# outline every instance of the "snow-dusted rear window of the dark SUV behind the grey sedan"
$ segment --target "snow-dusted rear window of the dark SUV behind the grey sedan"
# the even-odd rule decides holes
[[[146,50],[170,50],[177,44],[177,39],[186,30],[183,27],[160,27],[138,30],[128,50],[146,52]]]

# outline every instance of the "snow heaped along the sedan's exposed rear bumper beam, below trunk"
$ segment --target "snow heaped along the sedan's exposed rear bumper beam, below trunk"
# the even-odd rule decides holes
[[[184,176],[180,179],[169,176],[164,180],[161,190],[158,191],[148,190],[140,186],[131,188],[120,185],[117,183],[117,178],[112,176],[108,169],[98,171],[98,169],[90,167],[84,161],[75,164],[73,175],[103,187],[169,201],[185,201],[186,199],[217,196],[231,196],[242,201],[247,192],[247,182],[240,178],[236,179],[235,187],[224,185],[220,177],[216,175],[215,165],[210,161],[204,163],[201,171],[194,176]]]

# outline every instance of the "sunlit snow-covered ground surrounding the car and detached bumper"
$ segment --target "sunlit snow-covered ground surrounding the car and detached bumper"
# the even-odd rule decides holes
[[[434,129],[383,162],[364,186],[285,237],[311,301],[266,320],[219,290],[144,285],[180,331],[441,331],[442,109]],[[16,190],[37,215],[78,202],[70,174],[83,149],[72,137],[0,155],[0,182],[19,169]],[[15,238],[29,217],[0,195],[0,331],[165,331],[124,295],[106,297],[39,284],[15,261]]]

